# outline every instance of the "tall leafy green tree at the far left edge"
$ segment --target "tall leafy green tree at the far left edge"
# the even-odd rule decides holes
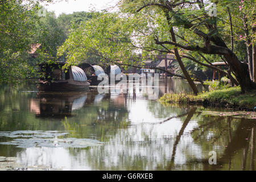
[[[34,72],[27,60],[40,2],[52,0],[0,1],[0,82],[22,80]]]

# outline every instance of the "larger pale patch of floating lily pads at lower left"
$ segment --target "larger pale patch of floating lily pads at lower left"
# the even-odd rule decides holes
[[[68,133],[59,133],[57,131],[1,131],[0,137],[15,138],[8,142],[0,144],[11,144],[19,148],[30,147],[72,147],[87,148],[100,146],[102,142],[95,139],[86,138],[57,138],[64,137]]]

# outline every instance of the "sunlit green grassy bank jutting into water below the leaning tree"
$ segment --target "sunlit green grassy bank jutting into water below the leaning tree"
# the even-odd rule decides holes
[[[159,101],[253,110],[256,107],[256,90],[242,94],[240,87],[233,87],[200,93],[198,96],[170,93],[164,94],[164,96],[160,97]]]

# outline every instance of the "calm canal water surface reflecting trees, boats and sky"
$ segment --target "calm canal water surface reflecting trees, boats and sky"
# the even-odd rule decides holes
[[[183,80],[101,94],[1,85],[0,170],[255,170],[255,119],[161,104],[170,92],[191,89]]]

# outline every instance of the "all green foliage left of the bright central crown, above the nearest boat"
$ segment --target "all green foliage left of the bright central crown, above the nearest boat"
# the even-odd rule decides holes
[[[67,39],[69,28],[92,18],[93,13],[62,14],[58,18],[46,10],[40,16],[40,2],[2,1],[0,3],[0,82],[15,82],[38,77],[38,63],[55,61],[57,48]],[[28,52],[40,43],[35,57]],[[64,60],[61,57],[60,60]]]

